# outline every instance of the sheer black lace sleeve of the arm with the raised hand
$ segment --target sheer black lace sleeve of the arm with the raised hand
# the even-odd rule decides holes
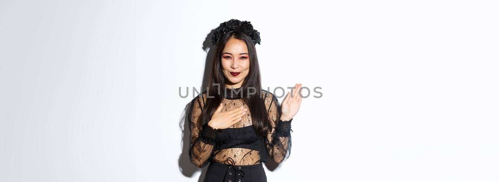
[[[281,109],[274,94],[267,92],[265,105],[268,105],[268,116],[272,131],[267,134],[269,143],[266,144],[267,154],[275,162],[281,163],[291,154],[291,120],[280,120]]]

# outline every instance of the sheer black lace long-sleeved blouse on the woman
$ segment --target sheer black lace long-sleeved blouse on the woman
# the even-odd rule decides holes
[[[226,88],[228,94],[223,98],[222,112],[238,107],[248,108],[242,100],[241,87]],[[236,91],[236,92],[233,92]],[[198,118],[203,112],[207,95],[206,91],[191,101],[188,113],[190,134],[189,158],[198,167],[204,167],[208,162],[225,162],[232,158],[236,165],[252,165],[272,158],[281,163],[291,153],[291,121],[280,120],[280,104],[274,94],[262,90],[262,98],[268,116],[271,120],[272,131],[267,133],[267,141],[257,136],[251,121],[251,113],[247,114],[236,124],[226,129],[214,129],[208,123],[198,129]]]

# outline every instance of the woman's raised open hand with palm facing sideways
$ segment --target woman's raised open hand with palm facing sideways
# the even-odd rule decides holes
[[[282,114],[280,119],[283,121],[292,119],[300,109],[301,99],[303,98],[301,97],[301,83],[295,84],[294,87],[295,88],[291,90],[292,97],[288,91],[281,104]]]

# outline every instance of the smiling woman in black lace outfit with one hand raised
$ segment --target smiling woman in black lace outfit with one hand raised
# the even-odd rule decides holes
[[[301,104],[301,83],[282,105],[261,89],[255,44],[259,32],[249,21],[231,19],[217,27],[209,86],[191,101],[189,157],[198,167],[210,162],[205,182],[266,181],[262,163],[281,163],[291,152],[291,120]],[[297,91],[300,90],[300,91]]]

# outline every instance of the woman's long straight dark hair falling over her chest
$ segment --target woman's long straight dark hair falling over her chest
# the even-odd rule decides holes
[[[270,118],[268,117],[265,102],[262,98],[261,80],[260,80],[260,68],[258,66],[258,58],[256,56],[256,48],[252,42],[250,36],[239,30],[232,30],[225,33],[219,40],[215,48],[215,55],[213,57],[213,64],[208,84],[208,97],[205,109],[199,117],[198,124],[199,130],[201,127],[208,123],[217,110],[217,107],[224,98],[225,83],[227,78],[222,73],[222,51],[229,39],[233,37],[236,39],[243,40],[248,46],[248,54],[250,57],[250,71],[246,78],[244,79],[243,85],[241,86],[243,92],[246,92],[248,88],[255,88],[255,94],[243,95],[242,101],[248,105],[249,111],[251,113],[251,120],[253,122],[253,128],[255,129],[258,136],[266,138],[267,133],[271,131]],[[220,88],[220,87],[222,88]],[[220,92],[219,92],[220,90]]]

